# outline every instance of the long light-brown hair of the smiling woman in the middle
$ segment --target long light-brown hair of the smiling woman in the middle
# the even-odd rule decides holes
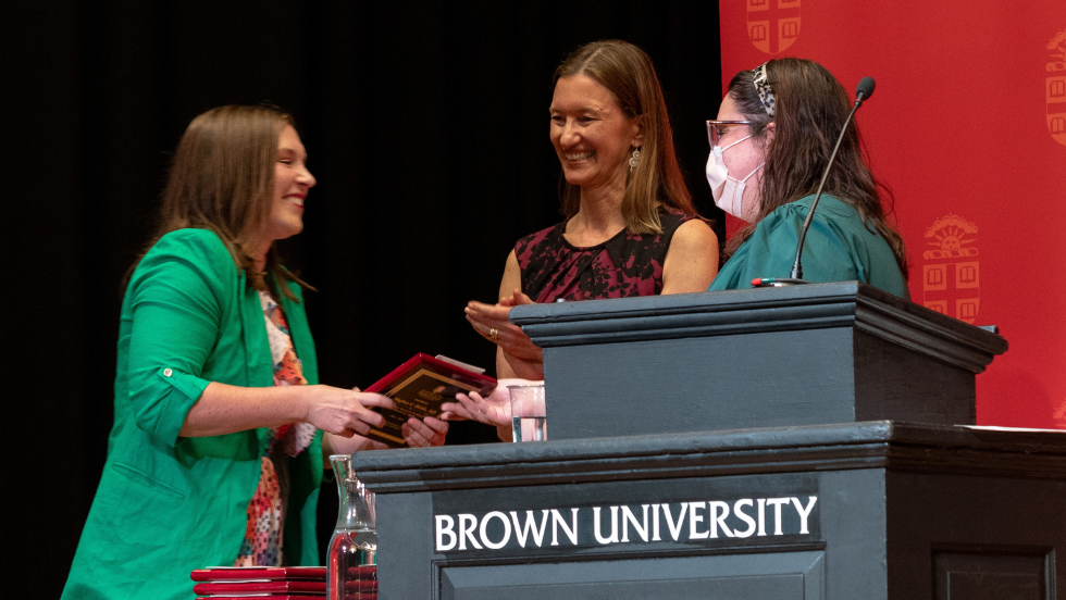
[[[641,159],[622,196],[625,228],[632,234],[662,233],[659,202],[695,213],[673,153],[673,134],[662,88],[647,53],[617,39],[586,43],[556,68],[554,83],[573,75],[585,75],[607,88],[630,118],[642,117]],[[570,218],[581,208],[581,188],[566,180],[561,185],[562,212]]]

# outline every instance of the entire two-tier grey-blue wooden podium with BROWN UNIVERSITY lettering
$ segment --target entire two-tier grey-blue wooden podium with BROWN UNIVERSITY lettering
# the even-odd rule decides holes
[[[551,441],[356,454],[383,600],[1059,597],[1066,438],[955,424],[997,335],[859,284],[512,318]]]

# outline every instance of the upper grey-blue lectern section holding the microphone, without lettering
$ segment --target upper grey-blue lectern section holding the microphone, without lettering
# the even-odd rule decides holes
[[[975,423],[996,334],[857,282],[511,310],[551,439],[891,420]]]

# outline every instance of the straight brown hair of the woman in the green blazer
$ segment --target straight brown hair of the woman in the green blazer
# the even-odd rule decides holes
[[[309,286],[282,266],[273,246],[265,272],[257,271],[251,258],[270,218],[277,140],[287,125],[293,117],[270,105],[219,107],[194,118],[174,152],[159,228],[145,251],[170,232],[210,229],[250,285],[265,291],[272,279],[278,284],[275,293],[295,300],[285,283]]]

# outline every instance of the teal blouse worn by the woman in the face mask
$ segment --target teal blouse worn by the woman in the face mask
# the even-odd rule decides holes
[[[757,277],[788,277],[814,196],[773,211],[730,257],[708,291],[752,287]],[[818,201],[803,248],[803,278],[818,284],[858,280],[910,299],[907,280],[889,243],[858,211],[832,196]]]

